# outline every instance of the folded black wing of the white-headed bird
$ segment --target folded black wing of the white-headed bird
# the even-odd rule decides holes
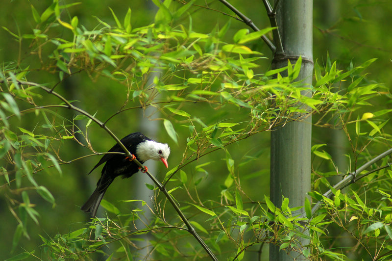
[[[147,138],[145,135],[143,135],[140,132],[134,132],[134,133],[126,135],[120,141],[124,144],[124,146],[129,150],[130,153],[135,154],[136,153],[136,148],[135,148],[134,145],[137,145],[137,144],[139,144],[140,142],[142,142],[144,140],[150,140],[150,139]],[[132,148],[132,149],[130,150],[130,148]],[[135,148],[135,149],[133,149],[133,148]],[[120,145],[118,143],[116,143],[108,152],[124,152],[124,151],[120,147]],[[111,158],[113,158],[115,156],[119,156],[119,155],[116,155],[116,154],[105,154],[99,160],[97,165],[95,165],[94,168],[88,174],[93,172],[93,170],[95,170],[99,165],[101,165],[102,163],[105,163],[106,161],[108,161],[109,159],[111,159]]]

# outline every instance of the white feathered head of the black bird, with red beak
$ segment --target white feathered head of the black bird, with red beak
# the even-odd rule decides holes
[[[139,143],[136,147],[136,157],[143,162],[148,159],[161,160],[168,167],[169,155],[170,148],[167,143],[163,144],[153,140],[146,140]]]

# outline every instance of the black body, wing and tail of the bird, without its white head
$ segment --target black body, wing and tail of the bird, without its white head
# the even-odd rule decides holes
[[[124,144],[126,149],[143,164],[144,161],[137,157],[136,148],[137,146],[147,140],[144,134],[140,132],[131,133],[123,139],[121,142]],[[119,144],[116,143],[108,152],[124,152]],[[106,162],[106,163],[105,163]],[[97,188],[87,200],[87,202],[81,207],[85,212],[90,212],[91,216],[95,217],[99,204],[106,192],[106,189],[113,182],[113,180],[123,175],[123,178],[129,178],[133,174],[139,171],[138,165],[134,161],[129,161],[124,155],[119,154],[105,154],[98,162],[97,165],[89,172],[89,174],[96,169],[99,165],[105,163],[102,168],[102,175],[97,183]]]

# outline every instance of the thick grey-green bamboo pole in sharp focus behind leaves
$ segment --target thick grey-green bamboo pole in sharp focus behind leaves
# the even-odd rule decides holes
[[[312,12],[313,0],[280,0],[276,7],[276,21],[284,53],[275,53],[272,67],[294,64],[302,58],[297,80],[312,83]],[[310,95],[305,91],[304,95]],[[282,195],[289,198],[289,207],[303,206],[310,191],[311,171],[311,115],[296,115],[297,120],[271,131],[270,199],[275,206],[282,204]],[[302,210],[299,210],[300,212]],[[295,213],[294,213],[295,214]],[[307,242],[298,242],[305,245]],[[306,260],[297,252],[288,255],[279,245],[270,244],[270,261]]]

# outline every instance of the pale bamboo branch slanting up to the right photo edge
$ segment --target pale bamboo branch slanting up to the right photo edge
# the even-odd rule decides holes
[[[336,185],[333,186],[334,189],[342,189],[346,186],[348,186],[351,183],[355,183],[357,180],[360,180],[366,176],[368,176],[369,174],[378,171],[380,169],[383,168],[387,168],[388,165],[385,165],[383,167],[377,168],[375,170],[371,170],[369,172],[367,172],[366,174],[357,176],[358,173],[361,173],[362,171],[364,171],[365,169],[367,169],[371,164],[375,163],[376,161],[382,159],[383,157],[387,157],[388,155],[392,154],[392,149],[389,149],[388,151],[378,155],[377,157],[372,158],[371,160],[369,160],[368,162],[366,162],[365,164],[363,164],[361,167],[359,167],[358,169],[356,169],[354,172],[350,172],[343,180],[341,180],[340,182],[336,183]],[[333,195],[332,190],[328,190],[327,192],[325,192],[322,196],[326,197],[326,198],[330,198]],[[321,207],[321,201],[317,202],[316,205],[312,208],[312,215],[319,210],[319,208]],[[304,216],[305,217],[305,216]]]

